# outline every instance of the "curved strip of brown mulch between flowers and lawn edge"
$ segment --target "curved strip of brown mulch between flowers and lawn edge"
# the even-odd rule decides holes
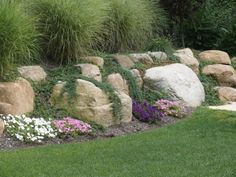
[[[133,117],[130,123],[123,123],[108,127],[105,131],[98,131],[92,135],[81,135],[77,137],[67,136],[62,138],[52,138],[44,140],[42,143],[24,143],[17,139],[11,138],[6,134],[0,137],[0,151],[15,150],[20,148],[45,146],[52,144],[68,144],[79,143],[85,141],[92,141],[96,139],[112,138],[117,136],[124,136],[131,133],[144,132],[150,129],[160,128],[168,124],[173,124],[180,119],[173,117],[164,117],[163,121],[159,121],[155,124],[144,123]]]

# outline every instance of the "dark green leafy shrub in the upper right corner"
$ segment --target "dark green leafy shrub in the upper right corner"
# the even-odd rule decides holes
[[[235,51],[235,0],[207,0],[185,24],[188,46],[196,49]]]

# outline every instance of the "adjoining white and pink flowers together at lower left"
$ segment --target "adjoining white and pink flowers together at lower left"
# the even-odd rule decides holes
[[[47,121],[43,118],[30,118],[25,115],[1,115],[6,125],[6,133],[22,142],[41,143],[46,138],[58,135],[81,135],[92,132],[92,127],[71,117],[62,120]]]

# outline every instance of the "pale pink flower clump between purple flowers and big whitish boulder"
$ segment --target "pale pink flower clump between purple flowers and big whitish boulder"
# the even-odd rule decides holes
[[[186,106],[180,101],[170,101],[161,99],[154,105],[165,116],[182,118],[187,114]]]

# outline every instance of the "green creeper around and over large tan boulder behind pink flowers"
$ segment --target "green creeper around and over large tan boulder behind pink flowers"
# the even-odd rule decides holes
[[[50,94],[52,93],[52,89],[57,81],[66,82],[61,95],[66,92],[68,94],[68,101],[70,104],[72,104],[74,99],[78,97],[75,89],[75,82],[77,79],[83,79],[92,82],[97,87],[102,89],[108,95],[108,99],[111,101],[111,103],[113,103],[112,111],[114,117],[118,119],[122,118],[121,100],[115,92],[114,88],[107,83],[98,82],[94,79],[82,76],[80,70],[74,66],[59,67],[56,69],[48,70],[48,77],[45,82],[39,84],[33,83],[33,88],[36,94],[36,105],[34,112],[30,115],[42,116],[45,118],[63,118],[66,116],[78,118],[78,115],[73,115],[65,109],[55,108],[50,104]]]

